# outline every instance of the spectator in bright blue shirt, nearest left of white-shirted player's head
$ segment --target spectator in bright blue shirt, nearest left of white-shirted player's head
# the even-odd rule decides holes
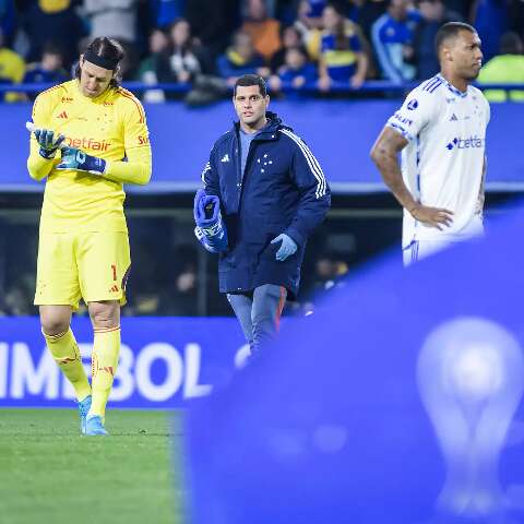
[[[415,79],[414,33],[420,13],[407,0],[386,0],[386,12],[374,22],[371,34],[382,76],[401,83]]]

